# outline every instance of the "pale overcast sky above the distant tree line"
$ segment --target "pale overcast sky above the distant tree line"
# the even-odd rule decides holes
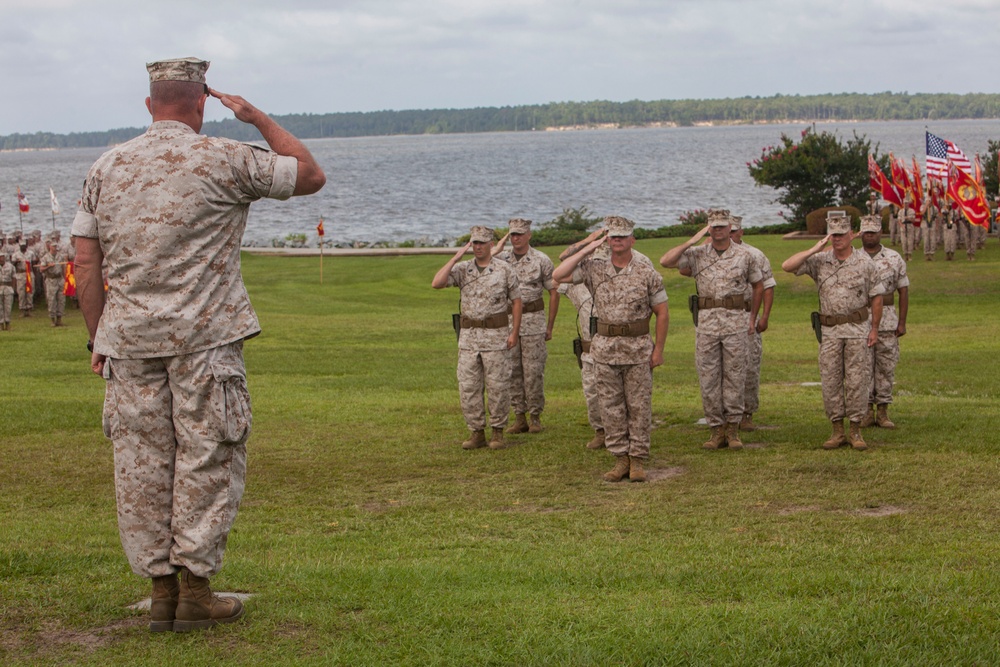
[[[0,135],[145,126],[145,63],[183,56],[272,114],[1000,88],[997,0],[0,0],[0,17]]]

